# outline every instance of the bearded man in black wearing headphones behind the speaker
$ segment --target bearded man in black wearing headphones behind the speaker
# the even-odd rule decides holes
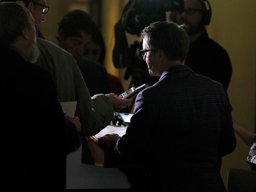
[[[207,9],[208,7],[208,9]],[[184,10],[171,14],[173,22],[185,24],[190,45],[185,65],[195,73],[229,86],[232,67],[226,50],[208,37],[206,26],[211,19],[207,0],[184,0]]]

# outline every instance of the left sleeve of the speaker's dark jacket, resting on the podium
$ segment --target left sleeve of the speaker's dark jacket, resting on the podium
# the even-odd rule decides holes
[[[141,93],[136,98],[134,115],[127,127],[126,134],[115,144],[114,151],[122,161],[143,163],[147,157],[148,140],[154,129],[154,118]]]

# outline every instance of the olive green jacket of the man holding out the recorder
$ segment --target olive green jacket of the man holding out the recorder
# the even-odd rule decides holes
[[[112,119],[113,105],[110,99],[103,94],[90,96],[70,53],[42,38],[37,38],[37,44],[40,55],[35,64],[53,75],[59,101],[77,101],[76,116],[82,124],[81,135],[97,134]]]

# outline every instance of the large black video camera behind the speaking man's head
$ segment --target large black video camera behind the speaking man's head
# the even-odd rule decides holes
[[[148,74],[145,61],[138,54],[142,43],[135,41],[130,47],[125,32],[140,36],[142,29],[151,23],[166,20],[167,11],[183,10],[183,0],[129,0],[125,5],[122,16],[115,24],[115,46],[113,49],[113,63],[115,68],[127,68],[124,79],[132,75],[135,87],[143,83],[150,86],[157,79]]]

